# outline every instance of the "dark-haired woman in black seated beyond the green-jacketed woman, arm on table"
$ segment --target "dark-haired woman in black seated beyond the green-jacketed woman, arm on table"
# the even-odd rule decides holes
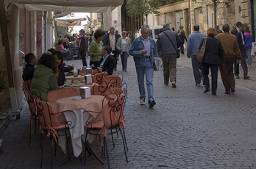
[[[65,72],[72,71],[74,69],[74,67],[64,65],[63,53],[61,53],[60,51],[53,51],[51,53],[51,55],[54,56],[54,58],[56,60],[57,68],[59,70],[59,76],[57,79],[58,85],[62,86],[65,83]]]

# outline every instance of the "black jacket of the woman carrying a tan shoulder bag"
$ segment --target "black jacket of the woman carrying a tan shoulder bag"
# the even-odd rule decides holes
[[[204,43],[205,38],[202,39],[199,49]],[[203,63],[209,63],[213,65],[221,65],[221,54],[224,52],[221,46],[221,40],[216,39],[213,36],[208,36],[206,40],[205,55]]]

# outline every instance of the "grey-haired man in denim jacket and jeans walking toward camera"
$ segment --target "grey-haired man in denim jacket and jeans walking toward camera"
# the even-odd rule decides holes
[[[148,92],[149,108],[156,104],[154,101],[154,57],[157,56],[157,45],[152,37],[149,37],[149,25],[143,24],[141,27],[141,36],[132,42],[129,54],[133,56],[138,79],[140,92],[140,104],[145,105],[145,86],[144,76],[146,76],[146,87]]]

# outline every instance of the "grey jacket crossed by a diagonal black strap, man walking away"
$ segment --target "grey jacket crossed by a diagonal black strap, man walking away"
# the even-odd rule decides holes
[[[168,40],[168,37],[163,32],[166,32],[166,35],[170,37],[175,47],[171,44],[170,40]],[[179,38],[176,32],[171,31],[169,28],[163,29],[163,32],[160,33],[157,38],[157,51],[161,51],[162,56],[166,54],[177,54],[176,48],[179,48],[179,46],[182,45],[182,40]]]

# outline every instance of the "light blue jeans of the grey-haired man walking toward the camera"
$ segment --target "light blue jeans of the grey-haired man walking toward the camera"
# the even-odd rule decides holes
[[[151,65],[150,59],[144,59],[143,66],[136,66],[136,73],[138,79],[138,87],[140,91],[140,99],[146,98],[146,92],[144,87],[144,75],[146,75],[146,88],[148,90],[148,101],[154,100],[154,86],[153,76],[154,68]]]

